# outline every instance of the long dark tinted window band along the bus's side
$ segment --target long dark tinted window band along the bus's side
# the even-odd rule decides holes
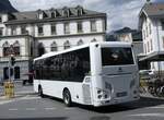
[[[35,61],[35,79],[82,82],[90,72],[89,48]]]

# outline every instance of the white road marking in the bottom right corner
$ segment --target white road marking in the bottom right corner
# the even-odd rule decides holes
[[[163,113],[138,113],[138,115],[129,115],[129,117],[161,117],[164,118]]]

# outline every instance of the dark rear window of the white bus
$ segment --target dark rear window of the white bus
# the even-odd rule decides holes
[[[126,65],[133,64],[131,48],[110,47],[102,48],[103,65]]]

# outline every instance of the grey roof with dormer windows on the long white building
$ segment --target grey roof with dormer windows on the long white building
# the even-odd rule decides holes
[[[81,10],[81,14],[79,14],[79,11]],[[69,12],[69,15],[65,15],[65,11]],[[44,14],[44,19],[38,19],[38,13]],[[56,16],[51,16],[51,13],[55,13]],[[9,20],[5,24],[12,24],[12,23],[22,23],[22,22],[36,22],[40,21],[48,21],[48,20],[69,20],[71,17],[89,17],[89,16],[105,16],[105,13],[95,12],[91,10],[83,9],[82,7],[78,5],[75,8],[62,8],[62,9],[49,9],[49,10],[37,10],[37,11],[26,11],[26,12],[15,12],[12,13],[14,15],[14,19]]]

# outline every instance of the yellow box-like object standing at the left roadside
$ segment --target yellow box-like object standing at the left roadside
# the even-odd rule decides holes
[[[5,82],[4,83],[4,95],[7,98],[14,97],[14,83],[13,82]]]

